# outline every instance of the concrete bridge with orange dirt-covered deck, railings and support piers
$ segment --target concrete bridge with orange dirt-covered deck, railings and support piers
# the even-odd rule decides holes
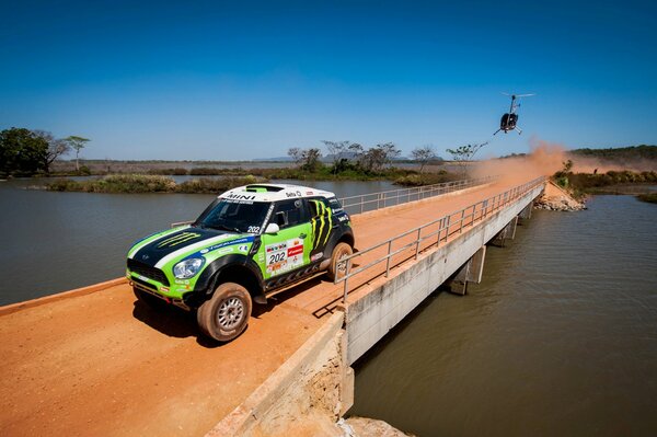
[[[475,181],[343,203],[359,250],[347,275],[257,308],[205,343],[193,318],[154,314],[125,279],[0,308],[2,435],[269,435],[353,403],[350,365],[446,281],[479,281],[486,243],[512,238],[544,189]]]

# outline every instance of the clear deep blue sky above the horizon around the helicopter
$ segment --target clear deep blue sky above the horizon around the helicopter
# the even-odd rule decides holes
[[[657,2],[3,2],[0,129],[85,158],[238,160],[491,139],[657,143]]]

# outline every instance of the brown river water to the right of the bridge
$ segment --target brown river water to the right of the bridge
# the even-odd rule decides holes
[[[657,205],[534,211],[483,281],[355,365],[351,415],[418,436],[656,436]]]

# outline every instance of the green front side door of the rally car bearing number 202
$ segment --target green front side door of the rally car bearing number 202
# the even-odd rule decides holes
[[[269,279],[308,265],[311,226],[303,199],[276,203],[269,222],[278,225],[279,231],[262,235],[258,260],[263,277]]]

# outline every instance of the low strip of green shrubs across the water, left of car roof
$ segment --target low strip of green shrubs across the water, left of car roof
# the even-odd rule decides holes
[[[171,177],[148,174],[114,174],[89,181],[61,179],[46,185],[55,192],[84,193],[200,193],[219,194],[258,182],[255,176],[198,179],[176,184]]]

